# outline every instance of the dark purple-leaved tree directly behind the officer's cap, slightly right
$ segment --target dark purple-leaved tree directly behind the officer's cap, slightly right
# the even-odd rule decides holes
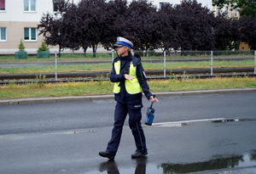
[[[160,28],[156,8],[147,0],[132,1],[124,16],[123,35],[134,42],[134,49],[156,48],[159,44]]]

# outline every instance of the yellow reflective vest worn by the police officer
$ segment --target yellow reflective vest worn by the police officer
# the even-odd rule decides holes
[[[120,67],[121,67],[121,61],[118,60],[114,63],[114,70],[115,70],[115,73],[117,75],[120,74]],[[132,61],[131,61],[131,64],[130,64],[130,70],[129,70],[129,75],[130,76],[134,76],[135,78],[131,80],[125,80],[125,89],[127,91],[127,93],[130,93],[130,94],[135,94],[135,93],[141,93],[143,90],[142,90],[142,87],[140,86],[140,83],[137,79],[137,76],[136,76],[136,66],[133,65]],[[120,88],[119,87],[119,84],[120,82],[114,82],[113,84],[113,93],[119,93],[120,92]]]

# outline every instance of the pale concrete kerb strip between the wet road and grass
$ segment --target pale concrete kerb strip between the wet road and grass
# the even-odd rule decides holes
[[[157,92],[154,94],[158,97],[158,96],[177,96],[177,95],[197,95],[197,94],[209,94],[209,93],[253,93],[253,92],[256,92],[256,87]],[[83,95],[83,96],[68,96],[68,97],[45,97],[45,98],[9,98],[9,99],[1,99],[0,105],[39,104],[39,103],[53,103],[53,102],[102,100],[102,99],[113,99],[113,94],[98,94],[98,95]]]

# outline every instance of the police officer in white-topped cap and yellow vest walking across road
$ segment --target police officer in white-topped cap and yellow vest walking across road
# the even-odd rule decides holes
[[[129,114],[129,126],[137,147],[135,153],[131,154],[131,158],[140,158],[148,154],[146,139],[141,126],[143,93],[149,101],[159,101],[149,92],[141,59],[131,55],[132,42],[124,37],[118,37],[114,46],[119,57],[113,59],[110,81],[114,83],[113,93],[117,103],[114,111],[112,138],[108,142],[107,149],[99,152],[99,154],[110,160],[114,159],[119,148],[125,118]]]

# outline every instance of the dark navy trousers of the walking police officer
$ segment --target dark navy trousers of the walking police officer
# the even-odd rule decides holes
[[[129,115],[129,126],[135,140],[137,151],[147,152],[146,139],[141,125],[143,104],[121,104],[117,102],[114,110],[112,138],[108,142],[107,151],[115,155],[123,131],[126,115]]]

